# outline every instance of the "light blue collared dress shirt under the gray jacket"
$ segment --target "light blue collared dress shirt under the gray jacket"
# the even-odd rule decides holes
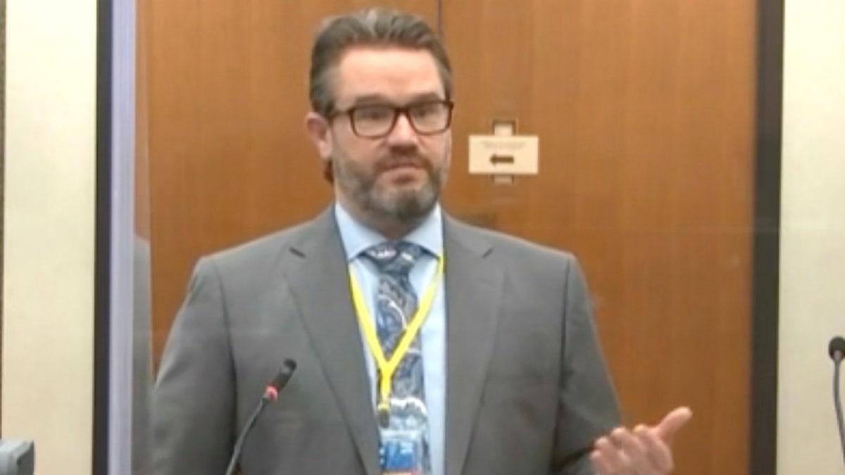
[[[335,204],[335,219],[341,231],[341,240],[346,250],[346,259],[352,265],[352,272],[361,286],[361,292],[367,303],[370,318],[375,325],[375,299],[378,291],[379,276],[375,266],[361,253],[379,243],[387,241],[379,232],[363,226],[341,206]],[[429,213],[423,223],[408,234],[405,241],[418,244],[428,251],[423,253],[411,270],[411,284],[422,299],[423,293],[433,281],[437,272],[437,259],[443,255],[443,220],[439,205]],[[426,406],[428,407],[428,429],[430,431],[430,453],[432,475],[444,475],[445,453],[445,417],[446,417],[446,304],[443,279],[438,282],[431,310],[420,329],[423,341],[423,378],[425,384]],[[364,354],[367,356],[367,371],[373,399],[373,418],[375,417],[376,364],[367,341],[361,332]]]

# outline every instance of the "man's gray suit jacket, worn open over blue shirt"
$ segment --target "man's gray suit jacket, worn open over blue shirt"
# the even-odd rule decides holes
[[[570,254],[444,217],[446,475],[586,475],[619,423]],[[378,475],[378,429],[331,209],[199,260],[153,396],[157,475],[225,472],[285,358],[298,363],[243,451],[245,475]]]

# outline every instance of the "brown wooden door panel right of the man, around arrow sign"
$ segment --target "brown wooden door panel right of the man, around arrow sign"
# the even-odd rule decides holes
[[[684,475],[748,467],[755,7],[474,0],[442,13],[456,88],[447,204],[575,252],[624,422],[695,410]],[[497,119],[539,136],[539,175],[469,175],[467,136]]]

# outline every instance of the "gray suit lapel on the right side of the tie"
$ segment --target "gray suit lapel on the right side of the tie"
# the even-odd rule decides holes
[[[444,218],[446,475],[463,472],[499,323],[504,273],[487,259],[493,249],[478,238]]]

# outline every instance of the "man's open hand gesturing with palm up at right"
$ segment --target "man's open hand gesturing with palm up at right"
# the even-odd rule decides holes
[[[665,475],[672,472],[672,440],[692,418],[692,411],[679,407],[657,426],[623,427],[596,441],[590,456],[597,475]]]

